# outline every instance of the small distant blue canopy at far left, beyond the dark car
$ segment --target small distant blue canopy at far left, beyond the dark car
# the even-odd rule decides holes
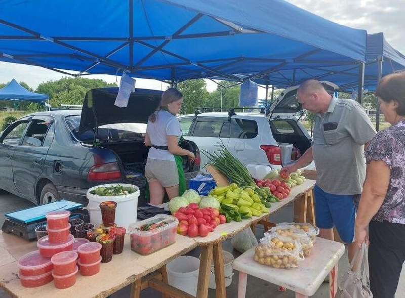
[[[45,103],[48,100],[48,95],[31,92],[22,87],[14,78],[0,89],[0,100],[29,100],[36,103]]]

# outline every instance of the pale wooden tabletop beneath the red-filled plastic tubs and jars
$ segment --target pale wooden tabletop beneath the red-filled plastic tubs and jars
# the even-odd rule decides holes
[[[53,282],[36,288],[25,288],[17,276],[17,260],[25,253],[36,249],[36,241],[27,242],[12,234],[0,234],[0,287],[11,296],[18,298],[55,298],[55,297],[106,297],[117,290],[132,284],[132,296],[141,290],[141,278],[154,272],[175,258],[197,246],[195,240],[176,234],[176,242],[152,253],[141,256],[130,249],[130,237],[126,237],[124,251],[114,254],[112,261],[101,263],[101,270],[94,276],[77,274],[76,284],[67,289],[57,289]]]

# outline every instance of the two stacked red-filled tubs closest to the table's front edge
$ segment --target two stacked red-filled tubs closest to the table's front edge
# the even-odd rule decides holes
[[[54,254],[51,258],[54,270],[52,276],[54,278],[55,287],[65,289],[76,283],[76,266],[77,252],[63,251]]]

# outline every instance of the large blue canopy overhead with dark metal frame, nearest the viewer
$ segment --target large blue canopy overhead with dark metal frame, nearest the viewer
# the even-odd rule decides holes
[[[365,30],[282,0],[9,0],[0,7],[0,60],[57,71],[237,79],[366,60]]]

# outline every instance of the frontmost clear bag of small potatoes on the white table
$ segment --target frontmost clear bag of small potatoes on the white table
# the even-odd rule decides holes
[[[255,249],[254,259],[262,265],[290,269],[298,267],[304,256],[299,241],[265,233]]]

